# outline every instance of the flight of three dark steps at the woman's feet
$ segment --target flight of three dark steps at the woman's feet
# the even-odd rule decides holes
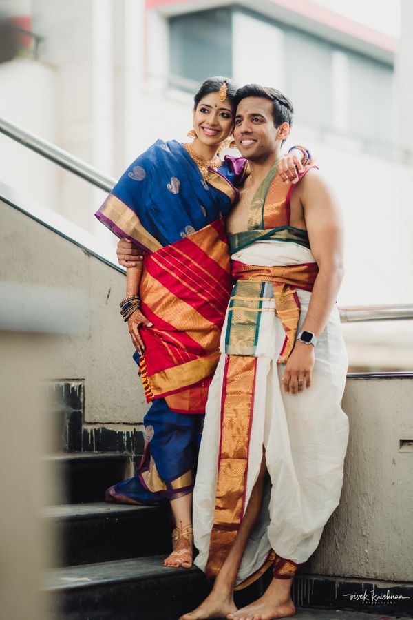
[[[62,454],[50,457],[68,480],[66,504],[44,518],[61,541],[59,566],[47,588],[65,620],[178,618],[207,593],[197,569],[164,568],[171,526],[164,507],[96,501],[121,479],[127,457]]]

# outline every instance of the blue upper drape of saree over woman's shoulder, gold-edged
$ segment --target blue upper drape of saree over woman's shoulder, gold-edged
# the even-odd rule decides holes
[[[207,182],[182,145],[158,140],[131,163],[95,216],[119,238],[156,251],[228,214],[237,196],[234,167],[225,161]]]

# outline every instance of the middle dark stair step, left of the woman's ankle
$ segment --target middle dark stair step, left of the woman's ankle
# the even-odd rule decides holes
[[[47,506],[43,517],[59,541],[59,566],[136,558],[171,550],[171,526],[163,506],[94,502]]]

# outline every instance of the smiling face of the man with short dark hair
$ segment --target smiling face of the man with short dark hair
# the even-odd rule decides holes
[[[235,114],[233,134],[237,149],[243,157],[259,161],[273,156],[281,143],[279,127],[274,126],[273,101],[264,97],[242,99]]]

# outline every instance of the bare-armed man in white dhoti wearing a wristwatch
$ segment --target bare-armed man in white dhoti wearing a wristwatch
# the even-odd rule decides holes
[[[215,582],[181,620],[295,613],[293,578],[339,503],[348,441],[340,405],[347,356],[335,309],[343,276],[339,208],[313,166],[294,186],[277,175],[290,101],[259,85],[241,88],[236,99],[234,138],[251,175],[227,220],[237,282],[193,500],[195,563]],[[237,610],[234,589],[269,566],[264,595]]]

